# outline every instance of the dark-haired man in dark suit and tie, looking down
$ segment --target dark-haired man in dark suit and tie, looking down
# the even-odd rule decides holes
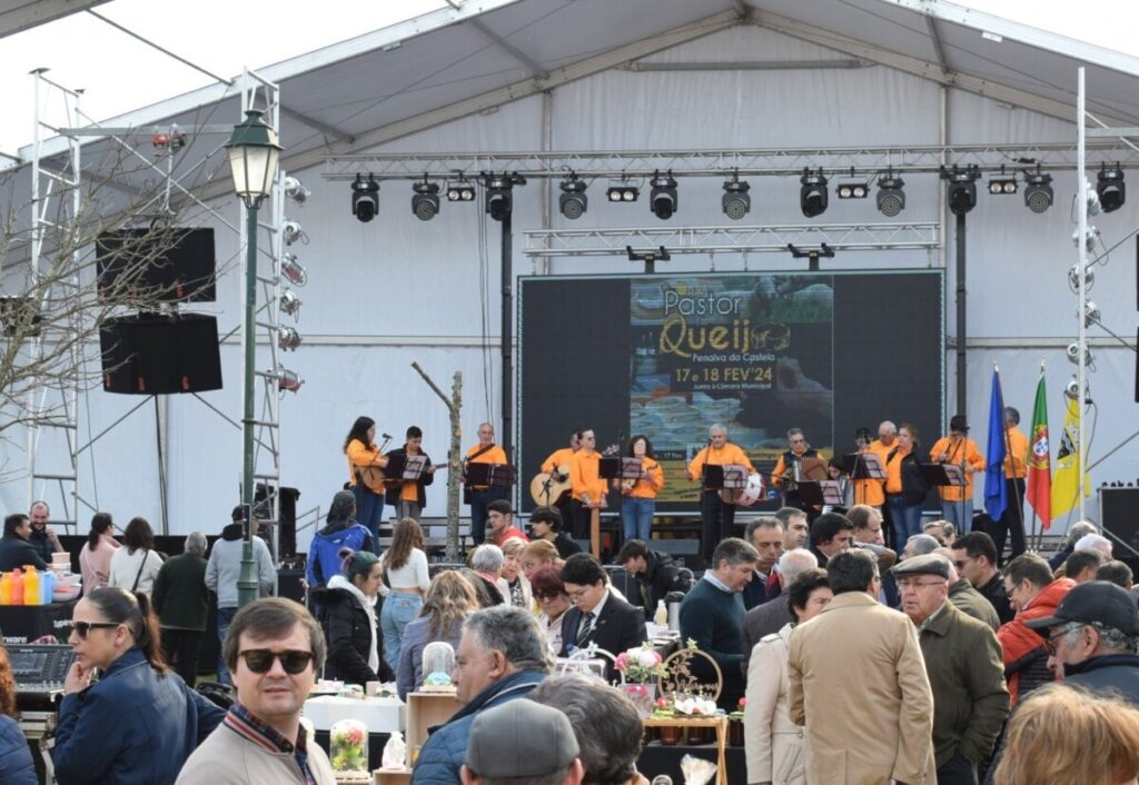
[[[609,591],[605,569],[590,554],[567,558],[562,582],[573,603],[562,620],[562,656],[590,644],[616,656],[648,640],[644,614]],[[612,664],[605,671],[613,677]]]

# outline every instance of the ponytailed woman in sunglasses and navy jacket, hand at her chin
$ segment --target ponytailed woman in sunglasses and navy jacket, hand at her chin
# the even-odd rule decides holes
[[[224,712],[166,665],[144,592],[96,589],[75,606],[75,662],[52,750],[60,785],[165,785]],[[99,680],[92,682],[95,669]]]

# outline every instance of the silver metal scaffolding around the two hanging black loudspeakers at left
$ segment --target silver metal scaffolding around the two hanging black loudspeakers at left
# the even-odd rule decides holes
[[[177,144],[179,138],[219,137],[223,140],[224,137],[228,137],[232,132],[232,125],[202,125],[197,128],[173,126],[161,131],[142,130],[137,128],[101,126],[81,112],[79,105],[80,92],[68,90],[67,88],[51,82],[43,75],[43,71],[33,72],[33,79],[35,80],[36,96],[36,134],[39,134],[39,130],[41,128],[51,129],[58,132],[62,138],[67,140],[67,155],[65,161],[62,163],[58,161],[59,156],[57,155],[40,155],[41,145],[39,136],[36,136],[33,148],[32,204],[34,207],[34,215],[31,261],[33,280],[35,279],[34,277],[36,272],[42,269],[43,264],[49,263],[51,260],[51,250],[44,247],[43,243],[44,229],[51,226],[51,222],[48,220],[48,215],[55,214],[74,219],[80,211],[83,190],[80,152],[82,149],[81,140],[84,137],[113,139],[123,150],[125,150],[125,154],[130,160],[142,162],[141,169],[149,174],[156,174],[161,178],[161,181],[164,185],[161,196],[156,197],[155,201],[150,201],[141,205],[133,205],[131,214],[120,215],[118,218],[123,222],[138,220],[140,218],[149,220],[173,218],[177,213],[172,208],[172,197],[177,197],[180,201],[183,201],[183,203],[191,204],[194,207],[205,211],[219,224],[237,234],[240,238],[238,256],[241,260],[245,259],[245,250],[247,247],[248,237],[244,208],[241,208],[238,203],[238,219],[229,220],[221,212],[219,212],[218,208],[211,206],[205,201],[196,196],[190,188],[182,185],[182,181],[195,174],[199,167],[204,166],[206,160],[196,162],[195,164],[181,170],[181,173],[179,174],[175,173],[173,155],[173,153],[180,147],[180,145]],[[269,124],[273,129],[279,128],[280,93],[279,88],[273,82],[262,77],[255,72],[246,71],[240,83],[236,87],[240,91],[243,114],[249,108],[263,108]],[[43,91],[56,91],[62,93],[69,107],[69,126],[52,129],[43,121],[40,114],[40,96]],[[151,161],[151,158],[142,149],[142,146],[148,142],[155,147],[169,148],[172,139],[175,140],[173,149],[167,149],[164,155],[161,155],[157,158],[158,163]],[[222,147],[221,144],[219,144],[211,149],[211,153],[207,155],[207,160],[221,152]],[[223,156],[219,157],[222,158],[220,164],[222,166],[227,165]],[[126,195],[138,194],[138,190],[130,183],[115,183],[113,180],[109,180],[105,185]],[[68,204],[63,205],[63,208],[55,204],[60,198],[59,194],[65,195],[68,199]],[[295,293],[293,293],[292,289],[286,287],[286,284],[292,283],[295,286],[303,286],[308,275],[304,268],[296,260],[296,256],[287,251],[289,245],[303,237],[303,230],[300,224],[290,222],[286,219],[285,206],[288,199],[303,202],[306,196],[308,191],[295,178],[287,177],[285,171],[278,170],[277,175],[273,179],[271,205],[268,210],[262,211],[264,218],[259,222],[259,229],[269,236],[269,243],[259,244],[257,248],[260,268],[256,275],[257,283],[260,284],[256,302],[257,335],[249,336],[249,340],[254,341],[262,351],[268,349],[268,357],[259,359],[259,368],[265,369],[256,371],[256,377],[261,381],[261,403],[259,414],[254,420],[254,480],[257,488],[257,517],[263,523],[272,528],[276,528],[280,520],[280,400],[287,391],[295,393],[303,384],[303,379],[298,374],[286,369],[284,366],[284,352],[295,350],[301,343],[300,334],[295,330],[295,328],[286,326],[281,320],[282,313],[292,314],[295,318],[301,304],[300,299]],[[80,260],[77,254],[75,254],[72,260],[67,261],[74,268],[74,275],[68,276],[62,283],[63,286],[72,287],[73,289],[81,285],[95,286],[93,281],[80,280]],[[222,265],[218,270],[216,276],[220,277],[226,271],[227,265]],[[50,293],[46,293],[46,302],[47,294]],[[177,313],[177,305],[171,308],[171,312]],[[71,334],[76,335],[79,329],[79,325],[72,326]],[[219,343],[223,344],[228,341],[233,341],[240,329],[241,324],[238,322],[231,330],[219,337]],[[43,340],[43,337],[36,338],[35,344],[33,344],[33,350],[38,351],[40,342]],[[89,456],[93,456],[93,448],[99,439],[122,425],[128,418],[142,409],[146,404],[153,403],[155,410],[155,444],[158,453],[157,482],[162,506],[162,533],[166,534],[169,533],[169,521],[166,516],[166,456],[163,436],[165,433],[164,404],[169,400],[169,396],[146,395],[138,404],[129,409],[98,434],[91,435],[89,432],[88,439],[81,439],[79,394],[84,375],[84,362],[85,358],[83,357],[82,347],[76,346],[75,361],[71,365],[72,373],[66,377],[60,377],[63,383],[57,385],[55,389],[44,385],[40,394],[28,401],[28,411],[32,415],[27,425],[28,498],[30,500],[47,498],[49,502],[55,501],[58,498],[63,501],[64,514],[63,516],[58,515],[58,508],[52,505],[52,523],[65,526],[68,530],[75,528],[71,533],[82,533],[81,529],[83,525],[83,517],[81,513],[95,513],[98,510],[98,491],[97,480],[93,474],[93,457],[91,458],[92,488],[95,489],[96,499],[82,498],[79,493],[80,466],[83,453],[88,452]],[[95,393],[88,391],[88,394]],[[240,416],[235,417],[227,414],[223,409],[211,403],[197,392],[191,392],[190,395],[192,395],[215,415],[230,423],[235,428],[240,430],[243,427]],[[238,401],[235,401],[235,408],[240,408]],[[69,461],[68,465],[62,467],[46,467],[36,460],[38,453],[43,450],[41,442],[46,436],[55,436],[56,441],[59,439],[65,440],[66,450],[63,452]],[[238,467],[235,475],[235,500],[237,500],[240,496],[239,465],[240,461],[235,461],[235,467]],[[52,497],[46,492],[52,485],[58,490],[58,497]],[[279,541],[280,538],[274,534],[271,547],[276,549]]]

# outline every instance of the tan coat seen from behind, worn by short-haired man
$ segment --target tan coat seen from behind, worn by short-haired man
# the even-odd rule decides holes
[[[787,679],[809,785],[934,785],[933,694],[906,615],[838,595],[792,632]]]

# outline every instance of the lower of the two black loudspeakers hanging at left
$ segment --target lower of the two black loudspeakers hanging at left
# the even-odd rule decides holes
[[[99,328],[99,343],[107,392],[162,395],[221,390],[214,317],[114,317]]]

